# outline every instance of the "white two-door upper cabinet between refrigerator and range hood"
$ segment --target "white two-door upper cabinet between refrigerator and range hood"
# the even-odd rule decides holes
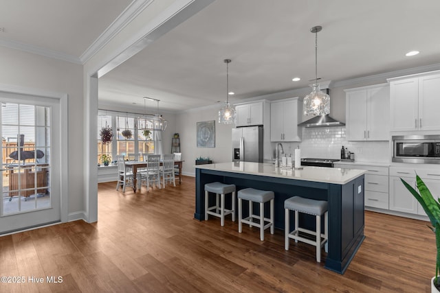
[[[271,102],[270,141],[301,141],[298,104],[298,97]]]

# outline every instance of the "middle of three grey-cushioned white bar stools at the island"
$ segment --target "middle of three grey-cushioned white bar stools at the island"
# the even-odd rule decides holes
[[[260,228],[260,239],[264,240],[264,231],[270,227],[270,233],[274,234],[274,191],[265,191],[253,188],[246,188],[239,190],[239,233],[242,231],[242,223],[249,224],[250,227],[256,226]],[[249,216],[243,219],[243,211],[241,200],[249,201]],[[270,201],[270,218],[264,218],[264,204]],[[260,215],[254,215],[252,209],[252,202],[260,203]],[[254,222],[259,220],[259,222]],[[264,224],[268,222],[267,224]]]

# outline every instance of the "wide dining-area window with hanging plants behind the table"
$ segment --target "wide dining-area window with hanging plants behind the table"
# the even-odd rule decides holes
[[[135,113],[122,114],[100,110],[98,113],[98,165],[102,164],[102,154],[110,156],[111,161],[115,161],[118,154],[154,154],[154,132],[138,129],[137,123]],[[140,121],[141,128],[144,128],[146,123],[147,121]],[[113,130],[113,141],[107,144],[102,143],[100,136],[100,131],[105,126]]]

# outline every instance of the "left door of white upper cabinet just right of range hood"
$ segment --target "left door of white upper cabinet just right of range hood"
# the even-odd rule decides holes
[[[347,140],[366,139],[366,89],[347,93]]]

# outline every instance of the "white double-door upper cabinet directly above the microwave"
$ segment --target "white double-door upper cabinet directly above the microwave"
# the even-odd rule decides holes
[[[391,130],[440,130],[439,71],[390,78]]]

